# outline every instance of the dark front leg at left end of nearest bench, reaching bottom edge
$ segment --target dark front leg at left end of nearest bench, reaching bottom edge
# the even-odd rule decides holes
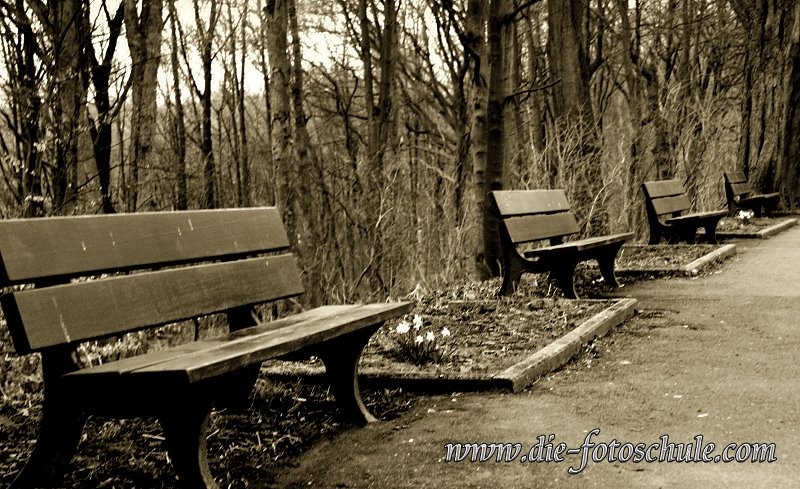
[[[158,421],[164,429],[172,467],[178,475],[179,487],[185,489],[217,489],[208,468],[206,431],[214,396],[189,392],[176,396],[170,410]]]

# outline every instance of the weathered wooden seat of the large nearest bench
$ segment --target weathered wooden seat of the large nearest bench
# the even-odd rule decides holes
[[[406,314],[412,308],[413,304],[407,302],[318,308],[303,313],[299,321],[290,317],[283,324],[267,323],[240,330],[227,339],[199,342],[203,348],[191,354],[178,354],[155,362],[145,360],[139,365],[123,363],[122,360],[83,369],[65,378],[78,382],[112,375],[119,377],[119,381],[134,383],[150,379],[156,382],[199,382],[381,323]]]

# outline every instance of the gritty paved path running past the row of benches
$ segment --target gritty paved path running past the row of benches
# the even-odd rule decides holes
[[[641,314],[522,394],[422,396],[400,419],[318,443],[280,487],[800,487],[800,228],[740,241],[718,273],[629,285]],[[778,460],[738,463],[444,463],[449,442],[542,434],[718,446],[774,442]],[[525,449],[527,451],[527,448]]]

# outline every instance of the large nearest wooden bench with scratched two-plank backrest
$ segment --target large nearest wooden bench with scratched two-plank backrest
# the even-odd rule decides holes
[[[0,222],[2,308],[20,354],[41,353],[39,437],[12,487],[59,486],[88,415],[158,418],[182,487],[217,487],[206,460],[212,408],[243,405],[262,361],[322,359],[341,413],[374,421],[357,365],[380,325],[408,303],[323,306],[259,323],[256,305],[303,292],[274,208]],[[120,273],[125,272],[125,273]],[[73,280],[80,278],[81,280]],[[90,340],[209,314],[229,333],[80,368]]]

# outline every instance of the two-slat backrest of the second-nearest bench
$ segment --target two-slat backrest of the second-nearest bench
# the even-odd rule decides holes
[[[508,239],[515,245],[557,241],[578,232],[563,190],[499,190],[491,195]]]

